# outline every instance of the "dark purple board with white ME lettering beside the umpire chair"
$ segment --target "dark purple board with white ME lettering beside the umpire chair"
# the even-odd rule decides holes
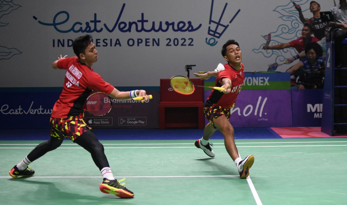
[[[323,111],[323,89],[292,90],[294,127],[320,127]]]

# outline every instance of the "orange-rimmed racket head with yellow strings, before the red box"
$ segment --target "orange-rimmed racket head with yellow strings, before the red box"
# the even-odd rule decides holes
[[[191,95],[195,91],[192,81],[181,75],[170,78],[170,85],[172,89],[182,95]]]

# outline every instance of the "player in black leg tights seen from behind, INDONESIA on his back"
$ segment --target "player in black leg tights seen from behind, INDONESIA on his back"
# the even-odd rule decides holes
[[[52,110],[50,139],[37,145],[20,163],[9,171],[9,174],[14,178],[33,176],[35,172],[28,165],[47,152],[57,149],[66,137],[90,152],[95,165],[100,169],[103,176],[100,185],[100,190],[103,193],[115,194],[120,198],[132,198],[134,193],[123,186],[124,184],[119,184],[124,179],[117,181],[113,177],[103,145],[84,122],[84,104],[93,90],[105,92],[116,99],[143,96],[142,103],[149,100],[149,96],[146,95],[145,90],[119,91],[110,83],[105,82],[98,73],[94,72],[92,65],[98,61],[98,51],[95,50],[95,45],[91,39],[92,36],[90,35],[76,38],[73,42],[73,50],[76,56],[67,58],[60,55],[58,60],[52,63],[54,69],[66,70],[66,73],[63,90]]]

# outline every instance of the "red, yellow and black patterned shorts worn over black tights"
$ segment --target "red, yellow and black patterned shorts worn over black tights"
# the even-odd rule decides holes
[[[71,141],[75,141],[78,136],[87,132],[88,127],[83,120],[83,116],[71,116],[68,118],[53,118],[51,122],[51,136],[63,139],[64,137],[70,138]]]

